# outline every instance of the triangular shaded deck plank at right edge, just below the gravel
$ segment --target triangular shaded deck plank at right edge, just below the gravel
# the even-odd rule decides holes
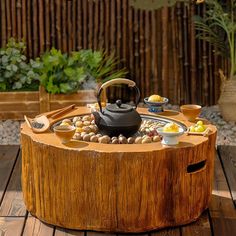
[[[236,146],[219,146],[220,158],[236,206]]]

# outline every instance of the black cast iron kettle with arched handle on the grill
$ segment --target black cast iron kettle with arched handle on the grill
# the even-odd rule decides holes
[[[136,90],[135,106],[123,104],[121,100],[117,100],[115,104],[109,104],[102,109],[100,98],[102,90],[113,84],[127,84],[129,87],[134,87]],[[107,134],[110,137],[123,134],[126,137],[130,137],[138,131],[142,121],[136,111],[140,100],[140,91],[134,81],[119,78],[104,83],[98,91],[97,100],[100,111],[93,112],[93,115],[95,124],[102,134]]]

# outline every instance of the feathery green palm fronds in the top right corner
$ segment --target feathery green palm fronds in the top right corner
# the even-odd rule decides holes
[[[197,37],[214,45],[216,51],[229,58],[230,78],[236,75],[236,1],[198,0],[207,7],[205,16],[195,16]]]

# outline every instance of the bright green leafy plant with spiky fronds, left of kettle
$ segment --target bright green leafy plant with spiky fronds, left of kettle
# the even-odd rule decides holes
[[[52,48],[36,60],[35,68],[47,92],[72,93],[91,83],[124,76],[125,69],[115,70],[117,63],[114,55],[102,51],[81,50],[68,55]]]

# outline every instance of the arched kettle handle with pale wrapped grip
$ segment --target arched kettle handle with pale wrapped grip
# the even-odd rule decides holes
[[[102,86],[100,87],[100,89],[98,91],[97,101],[98,101],[98,105],[99,105],[101,112],[102,112],[102,105],[101,105],[100,95],[102,93],[102,90],[106,89],[107,87],[109,87],[113,84],[127,84],[129,87],[135,88],[136,94],[137,94],[135,108],[138,106],[138,103],[140,100],[140,91],[139,91],[139,88],[136,86],[136,83],[133,80],[129,80],[129,79],[125,79],[125,78],[117,78],[117,79],[109,80],[109,81],[105,82],[104,84],[102,84]]]

